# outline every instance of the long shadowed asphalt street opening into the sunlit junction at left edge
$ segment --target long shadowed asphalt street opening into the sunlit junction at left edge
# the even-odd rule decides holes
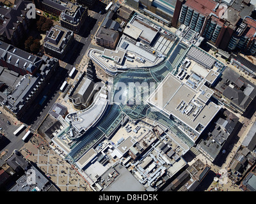
[[[106,12],[99,14],[99,11],[104,10],[106,6],[104,3],[105,2],[100,4],[100,6],[95,6],[96,8],[90,11],[88,19],[84,22],[81,31],[74,35],[74,46],[69,50],[65,59],[60,61],[60,68],[56,71],[57,74],[52,76],[49,80],[49,84],[46,85],[45,89],[38,95],[24,117],[20,119],[32,133],[40,127],[45,117],[47,117],[49,110],[51,110],[52,105],[54,105],[60,97],[61,92],[59,89],[61,84],[67,79],[68,71],[74,66],[77,67],[79,65],[88,48],[97,47],[96,45],[92,45],[91,41],[106,17]],[[47,99],[43,105],[40,106],[38,103],[43,96],[47,96]],[[0,166],[5,163],[4,160],[12,154],[14,149],[22,148],[24,145],[22,137],[26,134],[26,129],[24,129],[19,135],[13,135],[13,132],[19,127],[15,126],[15,124],[7,124],[6,120],[8,120],[8,116],[4,115],[4,113],[0,113],[0,133],[4,135],[1,138],[0,149],[1,152],[8,150],[6,154],[1,157]]]

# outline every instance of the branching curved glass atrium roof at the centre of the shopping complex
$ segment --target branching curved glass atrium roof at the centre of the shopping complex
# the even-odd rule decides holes
[[[71,151],[66,159],[77,161],[77,159],[90,149],[95,142],[100,140],[100,138],[105,135],[109,136],[109,134],[118,127],[125,115],[132,120],[142,119],[144,117],[155,120],[163,126],[166,126],[166,128],[170,129],[170,131],[179,136],[184,143],[191,147],[193,142],[177,128],[175,125],[176,122],[160,112],[151,112],[151,108],[146,102],[150,93],[152,93],[150,91],[154,91],[166,75],[173,71],[173,68],[182,60],[187,48],[185,44],[179,43],[175,49],[171,51],[170,57],[167,57],[168,60],[161,64],[153,68],[129,69],[114,77],[112,87],[113,94],[111,94],[109,98],[108,110],[106,110],[98,124],[86,132],[84,136],[71,147]],[[141,85],[142,87],[138,89],[138,86],[136,86],[136,88],[132,90],[134,95],[132,92],[129,92],[131,91],[129,85],[133,83]],[[125,87],[129,87],[129,91],[127,91]],[[136,97],[134,98],[134,96]],[[140,100],[141,103],[138,104],[137,102]]]

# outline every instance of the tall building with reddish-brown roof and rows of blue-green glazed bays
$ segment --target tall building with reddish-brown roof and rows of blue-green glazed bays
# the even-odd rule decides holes
[[[179,21],[225,50],[240,18],[239,11],[225,3],[188,0],[182,5]]]

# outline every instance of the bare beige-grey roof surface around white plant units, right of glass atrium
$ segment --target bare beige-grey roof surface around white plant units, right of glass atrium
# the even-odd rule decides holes
[[[157,96],[157,99],[155,98]],[[189,127],[196,129],[198,124],[204,127],[211,122],[214,115],[220,110],[220,106],[211,101],[202,104],[202,110],[196,116],[186,114],[180,111],[180,103],[184,101],[186,105],[192,105],[192,99],[197,99],[197,92],[184,84],[171,73],[164,78],[163,82],[157,87],[156,91],[150,96],[148,101],[163,110],[168,115],[174,115]],[[195,108],[195,106],[194,106]]]

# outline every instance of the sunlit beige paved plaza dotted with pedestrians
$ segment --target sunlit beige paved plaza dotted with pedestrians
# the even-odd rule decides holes
[[[92,191],[76,169],[54,152],[38,135],[32,136],[20,152],[49,176],[61,191]]]

